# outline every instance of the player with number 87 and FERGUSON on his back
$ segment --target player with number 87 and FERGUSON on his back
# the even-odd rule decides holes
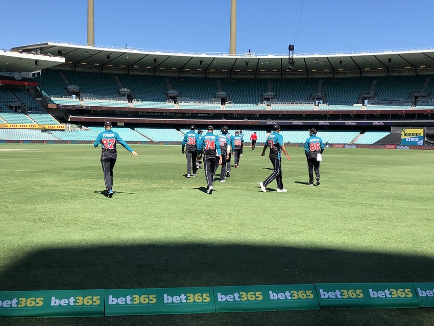
[[[98,147],[98,145],[101,144],[101,165],[104,172],[107,197],[111,198],[113,197],[113,168],[117,158],[116,142],[124,146],[134,156],[137,156],[137,153],[119,137],[117,132],[111,130],[111,122],[106,121],[104,123],[104,128],[105,130],[98,134],[93,146]]]

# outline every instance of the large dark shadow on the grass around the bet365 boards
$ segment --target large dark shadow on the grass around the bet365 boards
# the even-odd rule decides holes
[[[212,214],[213,211],[212,211]],[[340,282],[432,282],[427,257],[296,246],[137,244],[34,250],[0,274],[0,291],[128,289]],[[218,313],[15,324],[432,324],[434,309]],[[60,320],[60,321],[59,321]],[[64,323],[72,320],[69,323]],[[5,320],[1,320],[2,323]],[[28,321],[28,323],[26,323]],[[404,323],[406,322],[406,323]],[[8,320],[9,324],[14,321]]]

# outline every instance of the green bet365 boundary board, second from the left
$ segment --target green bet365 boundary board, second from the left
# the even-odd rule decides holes
[[[106,316],[215,312],[212,287],[106,290]]]

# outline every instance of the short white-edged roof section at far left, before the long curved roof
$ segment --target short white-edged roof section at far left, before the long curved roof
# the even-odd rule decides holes
[[[47,54],[36,54],[0,50],[0,71],[2,72],[35,72],[65,62],[65,58]]]

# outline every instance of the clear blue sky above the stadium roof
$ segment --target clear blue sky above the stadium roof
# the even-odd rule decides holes
[[[229,52],[230,0],[94,0],[95,43]],[[237,52],[296,53],[434,46],[434,2],[238,0]],[[86,42],[87,0],[2,1],[10,20],[0,48],[48,40]],[[5,28],[5,25],[4,27]],[[294,42],[295,40],[295,42]]]

